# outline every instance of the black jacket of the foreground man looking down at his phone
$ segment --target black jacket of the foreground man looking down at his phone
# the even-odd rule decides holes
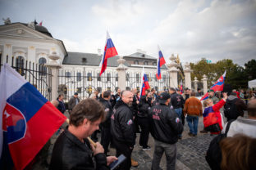
[[[60,136],[53,147],[53,154],[49,170],[105,170],[107,167],[107,158],[105,154],[94,155],[90,148],[89,141],[84,139],[82,143],[71,132],[65,130]]]

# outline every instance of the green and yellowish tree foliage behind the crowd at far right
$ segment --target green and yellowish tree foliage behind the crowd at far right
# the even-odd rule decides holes
[[[198,63],[190,63],[190,68],[194,71],[191,74],[192,80],[197,77],[199,81],[205,74],[208,78],[208,87],[213,86],[217,78],[225,72],[225,83],[231,84],[232,88],[247,88],[248,81],[256,78],[256,60],[249,60],[245,64],[245,69],[240,65],[236,65],[230,59],[223,59],[217,63],[208,63],[206,59],[200,60]]]

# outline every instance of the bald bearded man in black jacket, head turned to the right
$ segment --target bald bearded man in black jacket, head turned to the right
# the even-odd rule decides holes
[[[126,160],[120,169],[130,169],[130,155],[135,145],[135,124],[133,111],[130,109],[133,93],[122,92],[121,100],[117,101],[111,116],[112,141],[117,149],[117,156],[124,154]]]

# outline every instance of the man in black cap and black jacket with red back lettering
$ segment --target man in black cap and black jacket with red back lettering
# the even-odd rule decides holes
[[[150,132],[155,141],[151,169],[160,169],[159,163],[163,152],[167,158],[167,169],[175,169],[176,142],[183,132],[183,125],[178,114],[168,106],[171,96],[167,92],[162,92],[158,96],[158,102],[159,105],[154,105],[149,110]]]

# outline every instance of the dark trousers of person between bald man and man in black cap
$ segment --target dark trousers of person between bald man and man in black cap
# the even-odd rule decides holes
[[[142,147],[146,148],[149,141],[149,119],[138,117],[138,123],[141,128],[139,145],[142,145]]]

